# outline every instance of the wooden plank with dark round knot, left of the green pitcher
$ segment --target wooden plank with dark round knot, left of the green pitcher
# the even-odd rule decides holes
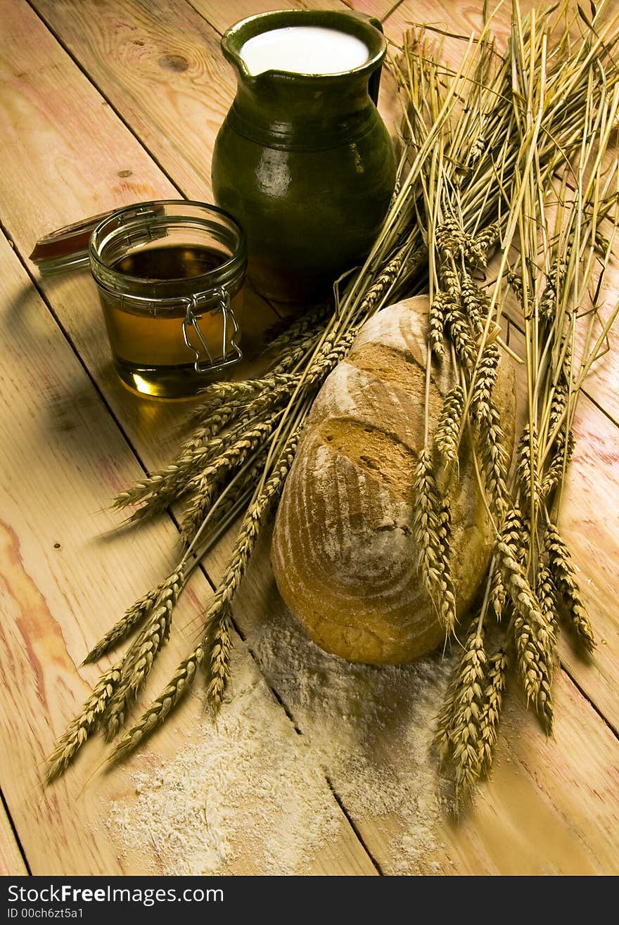
[[[235,87],[217,32],[175,0],[35,7],[183,193],[209,201],[213,142]]]

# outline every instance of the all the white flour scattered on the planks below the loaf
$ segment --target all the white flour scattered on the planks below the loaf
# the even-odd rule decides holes
[[[327,776],[355,822],[385,826],[386,872],[434,872],[440,658],[401,667],[332,658],[280,601],[247,642],[302,734],[283,735],[265,717],[264,685],[235,654],[217,726],[205,716],[173,759],[151,755],[152,769],[133,776],[135,799],[112,804],[108,827],[128,849],[155,848],[167,875],[305,873],[344,821]]]

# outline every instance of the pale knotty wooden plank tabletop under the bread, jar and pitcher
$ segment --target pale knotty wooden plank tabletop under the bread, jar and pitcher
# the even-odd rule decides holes
[[[378,16],[390,6],[387,0],[347,5]],[[203,735],[210,721],[200,697],[188,698],[147,746],[115,771],[101,771],[104,748],[97,740],[61,781],[43,788],[43,759],[101,671],[101,666],[77,666],[172,562],[176,527],[171,517],[112,534],[118,516],[108,504],[135,477],[167,461],[178,444],[175,427],[187,404],[144,401],[124,389],[110,364],[88,274],[42,279],[28,254],[44,232],[125,203],[211,198],[213,142],[234,92],[219,36],[233,21],[269,6],[268,0],[0,0],[3,873],[199,870],[191,842],[175,849],[175,867],[175,856],[160,843],[155,826],[152,837],[129,845],[118,820],[122,812],[131,820],[131,813],[140,811],[143,821],[136,791],[143,790],[144,781],[152,787],[154,772],[163,769],[165,776],[171,762],[187,755]],[[278,0],[274,6],[344,8],[344,3]],[[409,19],[468,31],[478,28],[481,6],[475,0],[456,13],[447,0],[406,0],[385,20],[385,31],[397,39]],[[501,13],[502,30],[507,16]],[[458,43],[448,43],[448,51],[457,55]],[[386,78],[381,98],[386,117],[389,104]],[[266,303],[255,301],[250,347],[275,317]],[[242,638],[236,637],[233,693],[247,699],[246,715],[241,710],[234,727],[224,722],[213,740],[221,746],[235,731],[229,755],[234,747],[242,755],[236,777],[229,773],[230,758],[217,779],[224,791],[230,782],[235,788],[228,794],[228,822],[219,823],[229,845],[218,860],[204,862],[204,871],[618,872],[618,382],[615,353],[591,377],[578,415],[563,530],[583,570],[600,645],[592,663],[562,648],[554,737],[547,740],[512,697],[496,768],[476,807],[458,823],[434,811],[426,818],[415,774],[423,773],[426,781],[422,765],[430,759],[417,755],[415,764],[407,758],[402,726],[385,722],[381,704],[367,705],[363,735],[353,718],[346,727],[350,734],[342,736],[337,702],[322,715],[321,703],[329,705],[318,699],[312,715],[303,697],[291,696],[295,687],[286,671],[273,670],[273,646],[265,646],[269,620],[279,627],[280,658],[294,643],[300,647],[295,657],[315,659],[316,668],[316,653],[290,630],[291,618],[262,549],[235,607]],[[149,694],[160,689],[190,648],[230,544],[228,537],[192,580],[180,605],[179,629],[162,654]],[[295,668],[292,658],[288,667]],[[320,670],[327,672],[328,690],[335,690],[328,660],[320,661]],[[306,681],[308,676],[311,680],[311,672]],[[399,705],[409,732],[421,717],[427,719],[427,706],[426,712],[415,712],[418,704],[407,703],[402,689],[396,690],[401,675],[372,677],[379,680],[381,703]],[[367,689],[354,687],[359,678],[354,672],[338,675],[344,702],[353,703],[355,691]],[[365,684],[367,677],[361,680]],[[253,748],[248,748],[250,738]],[[340,742],[346,760],[338,754]],[[261,796],[255,779],[263,769],[270,789]],[[243,774],[250,782],[247,799],[256,802],[254,834],[243,804]],[[217,786],[217,780],[210,783]],[[393,786],[385,783],[390,781]],[[204,793],[204,825],[211,831],[209,799],[225,816],[227,794]],[[162,806],[155,803],[155,815]],[[314,828],[307,825],[308,813]],[[286,819],[294,832],[283,831]]]

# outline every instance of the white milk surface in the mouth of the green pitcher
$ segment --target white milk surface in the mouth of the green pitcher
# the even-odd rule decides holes
[[[359,68],[369,57],[367,45],[347,32],[322,26],[289,26],[255,35],[241,46],[250,74],[287,70],[295,74],[339,74]]]

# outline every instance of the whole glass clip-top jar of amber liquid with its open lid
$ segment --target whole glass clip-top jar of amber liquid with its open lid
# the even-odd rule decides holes
[[[31,259],[42,274],[90,265],[118,376],[142,395],[186,398],[241,360],[245,234],[216,206],[130,205],[56,231]]]

